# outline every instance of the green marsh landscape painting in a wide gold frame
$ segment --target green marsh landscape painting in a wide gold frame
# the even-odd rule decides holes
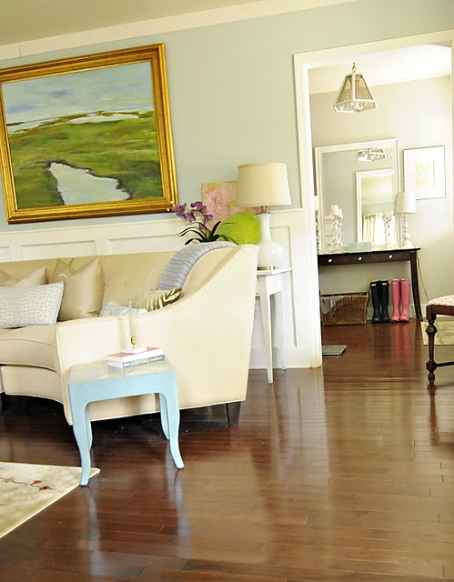
[[[0,70],[0,99],[9,223],[177,203],[163,44]]]

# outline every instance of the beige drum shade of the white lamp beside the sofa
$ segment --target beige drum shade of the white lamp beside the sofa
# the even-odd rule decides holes
[[[286,164],[243,164],[237,170],[237,206],[291,204]]]

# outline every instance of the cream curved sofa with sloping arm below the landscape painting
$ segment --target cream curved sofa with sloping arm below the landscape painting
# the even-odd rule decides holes
[[[99,256],[102,304],[127,301],[156,288],[172,252]],[[79,268],[95,257],[73,259]],[[0,263],[16,277],[56,259]],[[181,298],[135,316],[139,344],[161,346],[176,369],[180,408],[235,403],[247,396],[254,318],[257,246],[211,250],[192,266]],[[95,362],[128,345],[128,316],[95,316],[55,326],[0,329],[0,391],[62,403],[69,424],[67,376],[71,366]],[[155,395],[118,398],[90,405],[92,420],[153,413]]]

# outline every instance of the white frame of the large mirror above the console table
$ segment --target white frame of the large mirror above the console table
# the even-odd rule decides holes
[[[399,164],[399,140],[397,137],[392,137],[388,139],[374,139],[364,142],[351,142],[349,144],[335,144],[333,146],[318,146],[314,148],[315,151],[315,183],[316,183],[316,195],[318,196],[318,228],[319,228],[319,239],[321,246],[321,253],[328,254],[329,250],[326,248],[325,244],[325,200],[323,196],[322,187],[322,173],[323,173],[323,154],[334,153],[334,152],[346,152],[348,150],[364,149],[367,147],[383,147],[391,148],[393,157],[394,170],[393,176],[393,188],[394,196],[400,189],[400,164]],[[357,193],[354,193],[354,199],[357,201]],[[357,208],[351,209],[357,226],[356,238],[358,242],[358,205]],[[346,209],[344,209],[345,213]]]

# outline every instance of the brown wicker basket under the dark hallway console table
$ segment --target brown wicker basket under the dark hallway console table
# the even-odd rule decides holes
[[[368,292],[320,297],[323,326],[355,326],[366,323]],[[324,313],[328,310],[328,313]]]

